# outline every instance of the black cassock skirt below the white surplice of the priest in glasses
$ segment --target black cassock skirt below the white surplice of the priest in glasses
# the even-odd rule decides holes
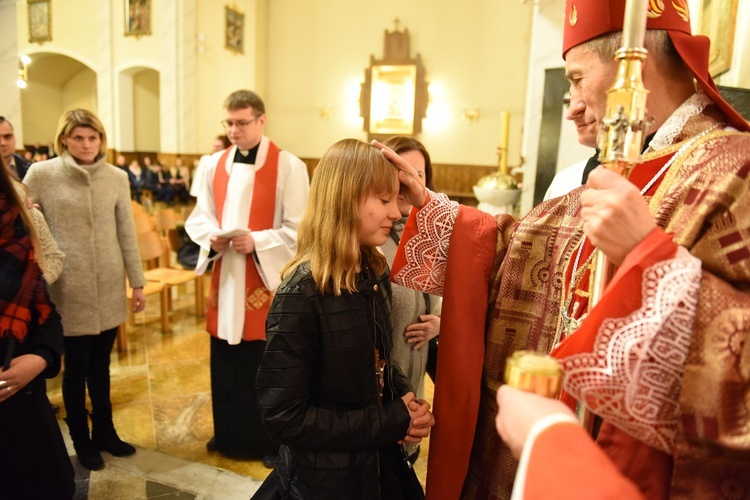
[[[211,337],[211,397],[217,450],[230,457],[276,455],[279,444],[261,425],[255,377],[263,358],[263,340],[228,342]]]

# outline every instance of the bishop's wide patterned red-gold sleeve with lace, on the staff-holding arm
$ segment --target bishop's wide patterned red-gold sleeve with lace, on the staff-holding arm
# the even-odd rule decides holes
[[[718,477],[731,463],[727,449],[750,451],[750,162],[719,164],[718,175],[675,179],[689,189],[662,201],[678,207],[663,223],[669,232],[655,229],[628,255],[602,301],[553,352],[568,393],[674,454],[676,470],[693,471],[680,478]],[[707,463],[716,474],[699,473]]]

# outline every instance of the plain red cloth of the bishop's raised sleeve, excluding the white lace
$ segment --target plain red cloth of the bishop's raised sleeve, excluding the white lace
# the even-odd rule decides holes
[[[392,276],[406,263],[404,245],[417,230],[417,210],[404,226]],[[469,468],[482,386],[487,286],[495,259],[497,222],[460,207],[445,271],[440,356],[435,383],[435,427],[430,437],[427,498],[459,498]],[[471,272],[466,263],[471,262]]]

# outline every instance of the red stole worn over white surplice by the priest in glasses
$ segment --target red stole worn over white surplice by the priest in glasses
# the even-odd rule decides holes
[[[226,162],[231,151],[232,148],[228,148],[221,155],[213,179],[216,218],[219,221],[219,227],[223,227],[224,202],[227,197],[227,187],[229,185]],[[247,223],[247,227],[253,231],[261,231],[273,227],[273,219],[276,212],[276,179],[279,171],[279,151],[279,148],[274,143],[269,143],[266,162],[262,168],[259,168],[255,172],[253,199],[250,202],[250,220]],[[212,299],[219,296],[220,276],[221,259],[218,259],[211,274],[210,297]],[[245,325],[242,330],[242,340],[265,340],[266,315],[271,306],[271,301],[267,299],[270,295],[271,292],[263,285],[263,280],[255,266],[252,254],[248,254],[245,264]],[[218,337],[218,320],[218,300],[209,300],[206,315],[206,330],[214,337]]]

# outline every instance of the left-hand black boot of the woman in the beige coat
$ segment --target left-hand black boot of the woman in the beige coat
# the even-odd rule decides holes
[[[86,382],[83,377],[63,375],[63,402],[70,438],[76,450],[78,461],[88,470],[100,470],[104,460],[89,436],[88,415],[86,413]]]

